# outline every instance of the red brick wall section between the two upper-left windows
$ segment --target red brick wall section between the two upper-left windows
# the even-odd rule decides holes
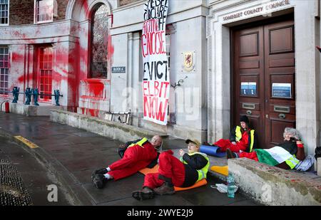
[[[34,23],[34,0],[10,0],[9,25]]]

